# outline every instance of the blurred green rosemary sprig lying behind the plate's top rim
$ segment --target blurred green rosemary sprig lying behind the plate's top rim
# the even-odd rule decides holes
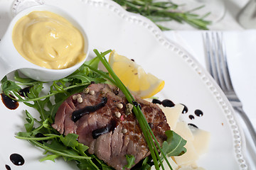
[[[113,0],[117,4],[121,5],[124,9],[132,13],[139,13],[142,16],[146,16],[151,21],[156,23],[161,30],[170,30],[161,26],[161,21],[177,21],[178,23],[188,23],[194,28],[201,30],[208,30],[210,21],[206,21],[205,18],[210,13],[206,13],[204,16],[198,16],[193,13],[194,11],[203,8],[204,6],[198,6],[189,11],[181,11],[178,9],[179,5],[174,4],[171,1],[154,1],[154,0]]]

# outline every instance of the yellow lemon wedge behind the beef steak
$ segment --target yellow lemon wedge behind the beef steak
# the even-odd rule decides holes
[[[114,50],[110,53],[110,67],[124,86],[141,98],[149,98],[164,88],[164,81],[153,74],[146,73],[136,62],[118,55]]]

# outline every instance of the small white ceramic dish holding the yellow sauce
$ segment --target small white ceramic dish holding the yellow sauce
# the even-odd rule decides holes
[[[46,69],[40,67],[36,64],[28,62],[25,58],[23,58],[16,48],[14,47],[14,43],[12,40],[12,33],[16,22],[26,16],[28,13],[32,11],[50,11],[53,13],[57,13],[60,16],[66,18],[70,23],[80,30],[82,36],[84,38],[85,43],[85,59],[82,62],[75,64],[73,67],[69,67],[67,69]],[[65,11],[55,6],[33,6],[30,8],[26,8],[23,11],[19,12],[9,24],[9,27],[6,30],[3,38],[0,41],[0,80],[4,78],[6,74],[13,72],[14,70],[19,70],[27,77],[31,79],[36,79],[38,81],[53,81],[57,79],[62,79],[67,77],[69,74],[75,72],[87,59],[89,53],[89,42],[85,31],[82,27],[75,21],[73,17],[68,15]]]

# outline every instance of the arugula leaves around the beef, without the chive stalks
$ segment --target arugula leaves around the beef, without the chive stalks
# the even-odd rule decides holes
[[[107,54],[107,52],[103,52],[102,55]],[[51,160],[54,162],[55,159],[63,157],[67,162],[77,162],[78,168],[80,169],[113,169],[107,166],[105,162],[95,157],[95,155],[88,154],[87,149],[89,147],[78,142],[78,135],[60,135],[59,132],[51,126],[58,107],[68,96],[82,91],[82,89],[91,84],[91,81],[95,81],[95,83],[113,83],[108,72],[97,69],[99,62],[99,58],[95,57],[82,64],[82,66],[70,76],[58,81],[53,81],[46,95],[42,93],[44,82],[20,77],[18,72],[15,73],[14,77],[17,82],[10,81],[6,77],[1,80],[1,88],[6,95],[14,94],[17,101],[22,101],[26,106],[35,108],[40,114],[41,120],[36,120],[36,118],[33,118],[33,116],[26,111],[27,123],[24,124],[26,132],[18,132],[16,137],[28,140],[32,145],[41,147],[46,150],[46,153],[50,153],[46,157],[43,157],[41,161]],[[31,88],[25,97],[21,97],[18,91],[20,91],[21,86],[24,85],[28,85]],[[39,125],[36,127],[35,124],[37,123]],[[37,137],[38,133],[41,133],[43,137]],[[180,155],[186,152],[186,149],[183,147],[183,145],[186,144],[185,140],[172,131],[166,132],[166,135],[168,139],[163,144],[163,150],[166,155]],[[48,140],[48,142],[46,140]],[[132,155],[127,155],[126,157],[128,164],[124,166],[124,168],[131,168],[134,165],[135,157]],[[141,167],[133,169],[150,169],[153,164],[152,157],[149,156],[144,159]]]

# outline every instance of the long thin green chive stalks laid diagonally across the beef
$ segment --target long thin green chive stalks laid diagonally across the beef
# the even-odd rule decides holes
[[[98,52],[97,50],[93,50],[93,51],[95,52],[97,57],[100,59],[102,64],[105,66],[105,68],[107,69],[107,71],[111,75],[112,79],[114,79],[114,84],[123,92],[124,96],[127,98],[127,101],[134,106],[133,107],[134,115],[136,116],[136,118],[139,122],[139,125],[140,125],[141,130],[142,130],[143,135],[144,135],[144,138],[145,138],[146,143],[147,143],[147,145],[149,147],[149,150],[151,152],[151,157],[154,161],[154,165],[156,167],[156,170],[159,170],[159,162],[160,162],[161,168],[164,170],[164,165],[163,165],[162,160],[159,156],[158,149],[160,150],[160,152],[163,155],[165,161],[169,165],[169,168],[172,170],[171,164],[167,160],[165,153],[162,151],[161,146],[159,145],[159,142],[156,140],[156,137],[154,136],[154,133],[152,132],[151,128],[149,127],[149,124],[147,123],[146,118],[145,118],[144,114],[142,113],[142,110],[139,108],[138,105],[137,106],[134,105],[134,102],[136,102],[134,97],[132,96],[132,94],[130,94],[130,92],[126,88],[126,86],[124,86],[124,84],[122,84],[122,81],[114,73],[114,71],[110,67],[110,64],[107,62],[107,60],[105,58],[105,55],[100,54],[100,52]],[[111,50],[109,50],[107,52],[110,52],[110,51]],[[106,54],[106,52],[105,52],[105,54]],[[156,145],[155,145],[155,143],[156,143]]]

